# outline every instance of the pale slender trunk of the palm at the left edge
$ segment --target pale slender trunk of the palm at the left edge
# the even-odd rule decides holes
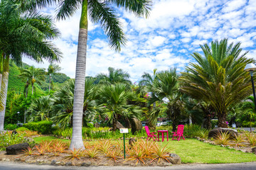
[[[4,130],[4,115],[6,111],[6,98],[7,98],[7,89],[8,89],[8,78],[9,78],[9,56],[6,56],[4,59],[3,67],[3,77],[1,80],[1,101],[3,103],[3,108],[0,111],[0,131]]]

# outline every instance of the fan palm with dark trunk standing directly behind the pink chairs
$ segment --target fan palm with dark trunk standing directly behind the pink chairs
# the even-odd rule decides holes
[[[159,114],[166,112],[175,124],[173,128],[176,130],[178,117],[181,115],[181,111],[183,111],[183,95],[179,92],[176,69],[169,69],[162,72],[156,72],[155,69],[153,77],[147,73],[144,73],[142,77],[143,79],[139,84],[144,85],[144,89],[151,94],[149,105],[156,101],[167,103],[167,108],[154,108],[149,112],[151,123],[156,124]]]

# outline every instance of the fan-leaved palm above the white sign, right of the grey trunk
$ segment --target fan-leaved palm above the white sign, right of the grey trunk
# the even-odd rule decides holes
[[[105,115],[110,123],[112,130],[117,130],[117,121],[120,116],[125,118],[140,118],[142,109],[139,106],[129,105],[128,100],[137,98],[134,92],[127,90],[126,84],[106,84],[102,86],[98,95],[98,103],[105,106]]]

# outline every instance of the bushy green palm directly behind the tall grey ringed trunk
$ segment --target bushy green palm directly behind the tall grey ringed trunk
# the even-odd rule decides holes
[[[83,103],[83,120],[92,120],[98,109],[95,103],[96,91],[98,86],[94,84],[95,79],[85,79],[85,96]],[[53,113],[57,113],[53,117],[53,121],[65,128],[72,125],[73,118],[73,100],[74,100],[75,80],[68,80],[63,88],[55,92],[53,97]]]

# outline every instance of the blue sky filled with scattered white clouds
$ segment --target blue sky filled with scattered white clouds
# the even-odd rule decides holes
[[[212,40],[228,38],[228,42],[242,42],[249,50],[247,57],[256,59],[256,0],[153,0],[149,18],[137,18],[118,9],[127,45],[121,52],[111,50],[100,25],[89,23],[86,75],[94,77],[107,73],[108,67],[123,69],[138,81],[144,72],[153,69],[178,71],[194,62],[192,52]],[[53,8],[44,12],[54,16]],[[68,20],[58,21],[61,38],[54,40],[63,52],[59,63],[61,72],[75,77],[80,11]],[[36,64],[48,67],[48,62]]]

